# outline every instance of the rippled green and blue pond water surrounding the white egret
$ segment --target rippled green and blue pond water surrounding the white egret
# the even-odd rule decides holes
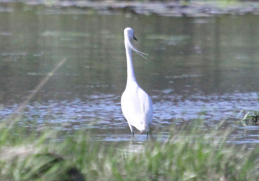
[[[102,141],[131,140],[120,97],[127,75],[123,30],[132,27],[132,43],[149,54],[146,60],[133,53],[133,64],[153,101],[155,134],[166,137],[171,124],[200,117],[210,128],[227,119],[237,144],[259,141],[259,127],[240,122],[259,110],[259,15],[170,17],[23,3],[0,3],[0,10],[0,119],[66,58],[26,106],[25,120],[95,127]]]

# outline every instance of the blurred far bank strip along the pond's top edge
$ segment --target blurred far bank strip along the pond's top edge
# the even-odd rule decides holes
[[[114,13],[136,13],[150,15],[156,13],[162,16],[218,16],[219,14],[258,14],[259,3],[257,1],[247,0],[102,0],[102,1],[85,1],[85,0],[47,0],[47,1],[15,1],[20,5],[24,5],[24,9],[28,6],[44,5],[45,7],[66,9],[73,7],[74,9],[87,9],[84,13],[98,14],[102,11],[110,14]],[[12,1],[8,2],[15,4]],[[11,5],[11,6],[12,6]]]

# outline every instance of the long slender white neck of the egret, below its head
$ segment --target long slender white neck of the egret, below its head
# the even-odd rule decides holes
[[[125,49],[126,49],[126,57],[127,57],[127,84],[131,81],[136,82],[133,63],[132,63],[132,52],[128,43],[130,40],[125,39]]]

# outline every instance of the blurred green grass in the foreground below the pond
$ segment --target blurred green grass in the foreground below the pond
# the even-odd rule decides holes
[[[258,147],[228,145],[229,130],[208,133],[202,121],[193,122],[173,126],[166,141],[146,141],[137,153],[124,149],[125,142],[103,145],[89,130],[0,126],[0,180],[259,179]]]

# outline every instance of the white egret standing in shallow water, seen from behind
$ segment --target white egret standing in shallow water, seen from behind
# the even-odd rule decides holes
[[[127,57],[127,85],[124,93],[121,96],[121,109],[123,115],[128,121],[133,138],[134,126],[140,132],[146,131],[148,139],[148,131],[153,119],[153,105],[152,100],[148,94],[142,88],[140,88],[135,78],[131,50],[134,50],[139,55],[144,53],[133,47],[130,42],[132,38],[137,40],[134,37],[134,30],[132,28],[125,28],[124,43]],[[141,56],[144,57],[143,55]]]

